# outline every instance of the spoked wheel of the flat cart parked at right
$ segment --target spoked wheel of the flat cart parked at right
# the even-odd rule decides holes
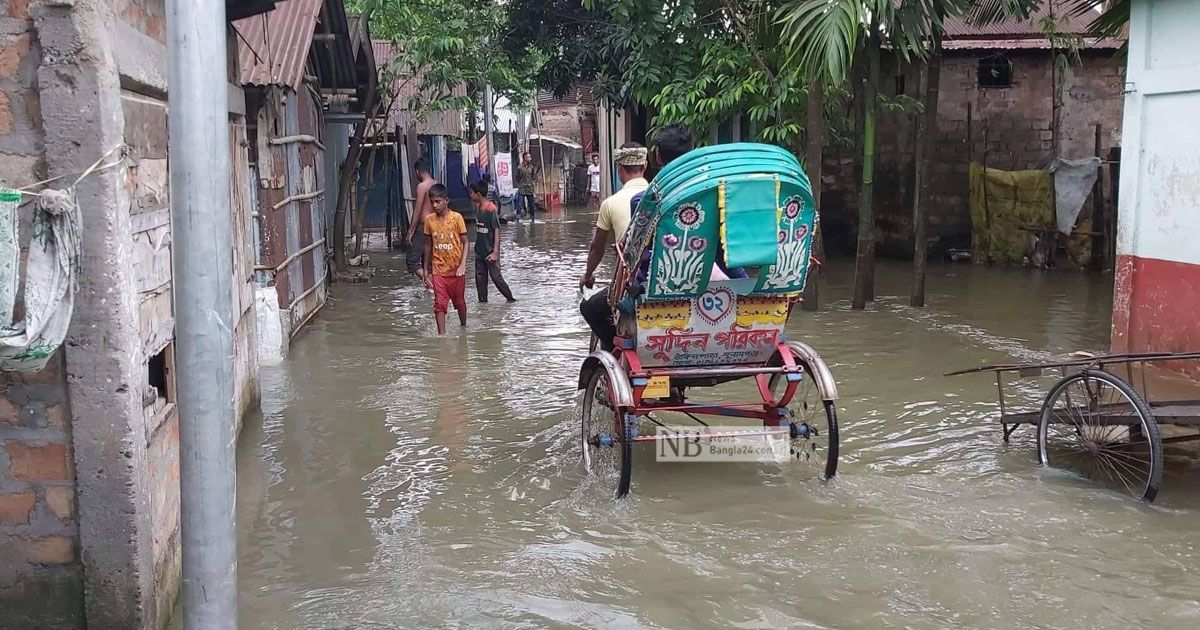
[[[1108,372],[1085,370],[1046,395],[1038,461],[1154,500],[1163,482],[1163,440],[1146,401]]]

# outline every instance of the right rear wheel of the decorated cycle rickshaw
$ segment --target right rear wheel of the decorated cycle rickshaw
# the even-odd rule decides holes
[[[798,361],[799,362],[799,361]],[[796,388],[788,407],[792,418],[792,455],[804,464],[818,470],[824,479],[838,474],[838,408],[834,401],[821,400],[809,366]],[[770,394],[779,397],[787,389],[782,374],[770,377]]]

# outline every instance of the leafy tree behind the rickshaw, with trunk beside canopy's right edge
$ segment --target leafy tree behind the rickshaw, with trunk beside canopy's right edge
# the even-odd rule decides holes
[[[611,104],[644,107],[650,133],[690,127],[701,142],[740,119],[743,136],[792,150],[820,196],[826,120],[845,137],[845,89],[812,82],[782,37],[774,0],[514,0],[511,37],[547,52],[539,83],[557,92],[586,80]],[[815,94],[814,90],[821,94]],[[814,110],[815,108],[815,110]],[[805,143],[808,146],[805,148]],[[820,232],[815,234],[820,252]],[[805,307],[817,305],[810,282]]]

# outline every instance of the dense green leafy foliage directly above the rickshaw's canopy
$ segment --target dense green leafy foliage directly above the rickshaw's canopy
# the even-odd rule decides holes
[[[794,148],[804,132],[809,82],[782,46],[773,18],[776,5],[582,0],[574,16],[587,23],[587,41],[575,34],[575,40],[558,38],[548,48],[565,53],[574,44],[600,50],[599,60],[574,56],[564,66],[583,76],[590,72],[598,95],[616,106],[649,107],[652,133],[679,122],[707,138],[713,125],[742,118],[749,122],[743,130],[757,139]],[[560,22],[575,19],[562,13],[550,17],[556,16]]]

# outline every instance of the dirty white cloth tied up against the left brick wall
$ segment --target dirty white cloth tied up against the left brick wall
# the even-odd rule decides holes
[[[0,265],[4,268],[0,271],[0,371],[37,372],[62,344],[71,325],[79,288],[82,226],[74,188],[40,193],[25,268],[25,316],[13,322],[20,288],[19,204],[20,193],[0,188]]]

